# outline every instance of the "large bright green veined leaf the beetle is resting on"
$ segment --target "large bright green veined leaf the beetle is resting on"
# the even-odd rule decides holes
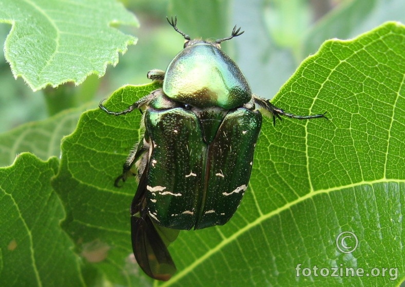
[[[326,42],[307,58],[274,103],[296,114],[327,111],[330,120],[284,119],[273,127],[264,119],[240,209],[225,226],[181,232],[169,247],[178,273],[155,285],[398,284],[404,269],[404,43],[404,27],[388,23],[350,41]],[[123,87],[105,106],[123,110],[156,88]],[[76,242],[107,244],[108,256],[95,267],[126,285],[151,283],[131,255],[128,207],[136,181],[113,187],[140,137],[140,120],[138,111],[85,113],[63,142],[53,184],[67,208],[65,230]],[[343,231],[358,237],[353,253],[336,247]],[[297,264],[397,273],[297,277]]]

